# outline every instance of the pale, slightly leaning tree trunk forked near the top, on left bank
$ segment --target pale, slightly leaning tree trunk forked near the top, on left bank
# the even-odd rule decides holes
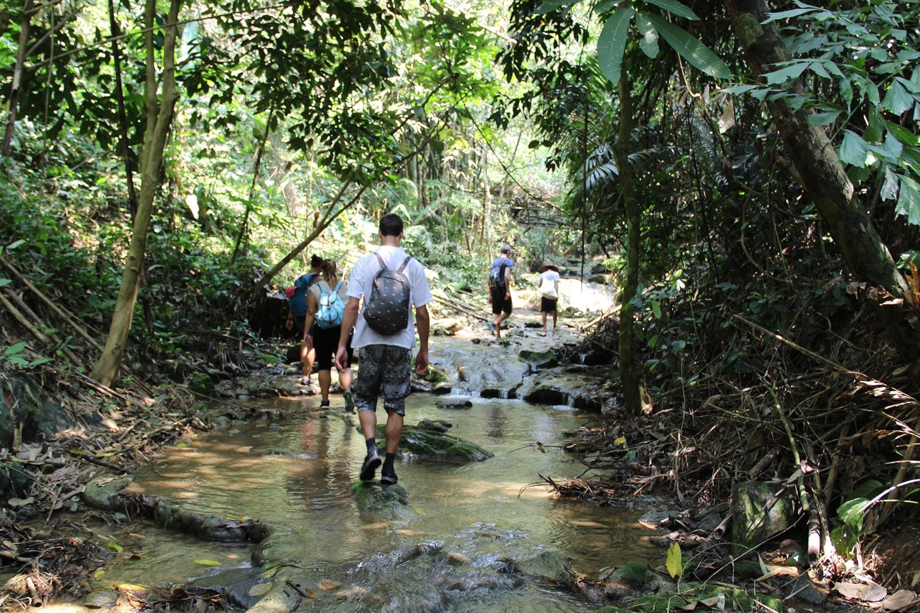
[[[121,367],[128,333],[131,330],[137,288],[140,285],[144,267],[144,250],[147,244],[147,228],[154,209],[156,189],[159,187],[160,165],[166,147],[169,124],[178,99],[176,90],[176,36],[178,9],[181,0],[172,0],[167,16],[166,34],[163,40],[163,92],[157,101],[156,55],[154,46],[154,17],[156,0],[147,0],[144,12],[144,38],[146,41],[146,101],[147,131],[144,133],[144,153],[141,160],[141,193],[134,216],[131,246],[121,275],[121,289],[115,302],[115,312],[109,327],[106,346],[99,357],[91,376],[103,385],[111,387]]]

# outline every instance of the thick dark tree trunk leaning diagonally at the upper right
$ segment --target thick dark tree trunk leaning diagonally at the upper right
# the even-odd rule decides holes
[[[769,10],[765,0],[725,0],[744,55],[753,71],[762,76],[777,62],[788,62],[788,51],[776,25],[764,25]],[[796,87],[800,90],[800,86]],[[860,281],[884,289],[890,296],[873,300],[873,306],[891,340],[903,358],[920,358],[920,335],[914,327],[916,315],[905,303],[907,283],[895,266],[888,247],[875,225],[854,196],[855,189],[823,128],[810,126],[809,112],[790,108],[787,101],[767,101],[789,156],[804,187],[827,224],[834,244],[846,265]],[[895,300],[890,300],[891,296]]]

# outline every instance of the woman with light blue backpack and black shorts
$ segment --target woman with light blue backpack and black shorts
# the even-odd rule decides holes
[[[333,260],[323,260],[320,266],[322,277],[310,285],[306,296],[306,320],[304,344],[316,349],[316,376],[319,378],[321,407],[329,405],[329,386],[332,382],[332,360],[339,348],[342,315],[348,301],[348,282],[340,279],[338,267]],[[314,325],[316,324],[316,325]],[[311,334],[312,333],[312,334]],[[348,362],[345,369],[339,369],[339,383],[345,398],[345,410],[354,413],[351,396],[351,335],[348,339]]]

